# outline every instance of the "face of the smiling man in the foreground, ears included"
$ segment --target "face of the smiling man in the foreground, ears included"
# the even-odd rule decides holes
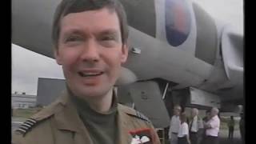
[[[98,98],[114,86],[127,51],[117,14],[103,8],[62,18],[54,54],[74,95]]]

